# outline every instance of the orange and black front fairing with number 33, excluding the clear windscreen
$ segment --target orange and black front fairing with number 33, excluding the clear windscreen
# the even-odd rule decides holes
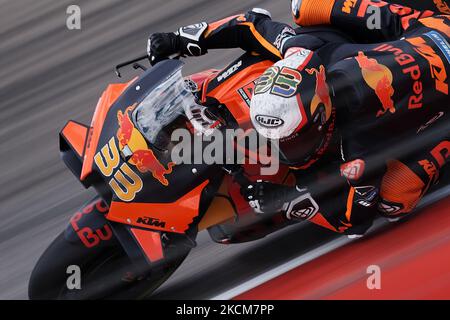
[[[79,146],[76,135],[72,139],[75,150],[84,150],[78,154],[83,168],[79,165],[77,174],[86,186],[92,177],[100,180],[97,184],[102,187],[94,187],[110,204],[109,220],[187,232],[201,219],[209,195],[214,194],[211,190],[222,178],[216,166],[176,166],[170,152],[154,148],[134,123],[134,109],[181,66],[180,61],[167,60],[131,83],[111,85],[99,101],[91,128],[84,130],[86,146]],[[73,131],[72,127],[63,133]]]

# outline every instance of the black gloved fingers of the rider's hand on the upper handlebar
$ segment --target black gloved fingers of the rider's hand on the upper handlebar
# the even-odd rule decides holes
[[[180,39],[175,33],[154,33],[148,39],[147,54],[152,65],[179,52]]]

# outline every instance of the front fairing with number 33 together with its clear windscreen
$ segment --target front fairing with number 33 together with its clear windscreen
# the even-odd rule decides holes
[[[222,179],[217,166],[171,162],[170,134],[188,122],[179,107],[194,103],[192,93],[184,90],[182,66],[180,61],[163,61],[131,83],[110,86],[99,101],[81,176],[90,172],[89,177],[100,177],[112,191],[109,198],[106,192],[102,195],[110,203],[111,221],[185,233],[202,218],[206,208],[200,206],[212,200]],[[119,88],[123,92],[117,97]]]

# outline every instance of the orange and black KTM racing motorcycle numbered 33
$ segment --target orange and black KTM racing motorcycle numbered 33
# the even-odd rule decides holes
[[[296,223],[281,215],[255,215],[239,191],[242,179],[293,184],[289,168],[264,177],[259,164],[236,170],[170,159],[176,129],[196,135],[205,126],[249,128],[255,80],[272,62],[245,54],[238,60],[245,73],[231,77],[226,68],[183,77],[180,60],[147,69],[139,63],[144,58],[116,67],[118,76],[130,65],[143,72],[107,87],[90,126],[69,121],[60,132],[62,160],[98,195],[40,257],[30,278],[31,299],[149,297],[195,247],[198,232],[207,230],[215,242],[230,244]],[[207,98],[220,101],[218,106],[195,103],[202,87],[214,88],[225,77],[227,84],[209,90]],[[80,290],[67,285],[73,266],[80,271]]]

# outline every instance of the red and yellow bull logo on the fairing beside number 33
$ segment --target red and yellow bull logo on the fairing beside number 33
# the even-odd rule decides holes
[[[169,185],[165,177],[172,173],[175,163],[169,162],[167,168],[158,160],[153,151],[148,148],[147,142],[142,134],[134,127],[130,119],[130,112],[134,110],[136,104],[128,107],[125,112],[117,112],[119,129],[117,139],[119,139],[120,150],[128,148],[132,155],[128,162],[136,166],[141,173],[151,172],[152,176],[164,186]]]

